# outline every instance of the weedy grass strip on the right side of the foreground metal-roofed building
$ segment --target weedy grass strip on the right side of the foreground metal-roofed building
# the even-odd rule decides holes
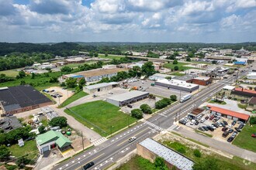
[[[180,152],[182,155],[187,156],[188,158],[191,158],[194,162],[204,162],[206,159],[215,159],[216,164],[219,165],[219,170],[240,170],[240,169],[255,169],[255,163],[251,162],[250,165],[244,165],[244,159],[234,157],[232,159],[223,157],[222,155],[216,155],[214,153],[211,153],[209,155],[201,151],[201,157],[196,157],[194,155],[195,149],[192,147],[189,147],[190,145],[182,145],[178,141],[164,141],[164,145],[168,146],[169,148],[174,149],[175,151]]]

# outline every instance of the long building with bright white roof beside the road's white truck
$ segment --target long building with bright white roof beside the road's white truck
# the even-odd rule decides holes
[[[162,86],[162,87],[168,87],[175,90],[182,90],[182,91],[188,91],[192,93],[195,90],[199,90],[199,85],[193,84],[193,83],[187,83],[184,80],[157,80],[155,82],[155,85]]]

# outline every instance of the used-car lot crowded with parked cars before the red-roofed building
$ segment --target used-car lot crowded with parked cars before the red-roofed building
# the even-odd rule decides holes
[[[187,126],[189,128],[193,128],[195,130],[198,130],[204,134],[210,134],[213,136],[212,138],[214,138],[218,141],[224,141],[224,142],[228,142],[227,139],[230,138],[232,136],[232,134],[234,134],[235,131],[237,131],[237,129],[235,129],[235,128],[238,128],[240,125],[239,124],[240,122],[233,123],[234,122],[233,120],[230,120],[226,117],[219,117],[214,114],[209,114],[209,111],[204,112],[204,114],[202,114],[202,117],[199,117],[197,119],[197,121],[190,120],[189,116],[186,116],[182,120],[186,120],[185,126]],[[224,124],[224,121],[226,121],[227,124]],[[234,125],[232,125],[232,123]],[[213,124],[217,124],[217,125],[215,126]],[[226,129],[223,129],[223,125]],[[206,128],[202,128],[202,127],[206,127]],[[213,130],[211,130],[208,127],[211,127],[211,129],[213,129]],[[223,137],[224,131],[227,131],[226,137]],[[228,133],[228,131],[230,131],[230,133]],[[242,131],[242,129],[240,129],[240,131]],[[238,134],[239,132],[235,132],[235,133]],[[234,135],[234,138],[236,136],[237,135]],[[234,141],[234,138],[232,141]]]

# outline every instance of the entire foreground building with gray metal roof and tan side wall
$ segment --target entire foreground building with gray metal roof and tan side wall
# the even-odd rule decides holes
[[[137,155],[146,158],[150,162],[154,162],[157,156],[164,158],[165,164],[170,169],[175,166],[177,169],[191,170],[194,165],[191,159],[179,154],[171,148],[161,145],[151,138],[146,138],[144,141],[137,143]]]

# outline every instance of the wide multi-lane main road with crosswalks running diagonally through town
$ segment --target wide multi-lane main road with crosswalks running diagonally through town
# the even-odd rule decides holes
[[[240,76],[244,75],[245,72],[240,74]],[[95,162],[92,169],[106,168],[111,165],[112,162],[116,162],[119,158],[133,151],[133,149],[136,148],[137,142],[143,141],[147,137],[153,137],[163,130],[175,128],[173,124],[175,118],[184,117],[189,111],[193,110],[195,107],[199,107],[199,105],[208,100],[209,97],[213,97],[213,95],[221,90],[227,83],[230,83],[228,81],[231,80],[231,78],[233,77],[228,78],[226,80],[227,82],[212,84],[208,88],[196,93],[192,99],[182,104],[177,103],[162,110],[160,114],[156,114],[147,119],[147,121],[142,121],[120,134],[116,134],[108,141],[102,143],[102,145],[84,151],[74,158],[62,162],[60,165],[56,165],[53,169],[81,169],[81,166],[88,162]],[[133,136],[136,136],[137,140],[129,143],[127,140]]]

